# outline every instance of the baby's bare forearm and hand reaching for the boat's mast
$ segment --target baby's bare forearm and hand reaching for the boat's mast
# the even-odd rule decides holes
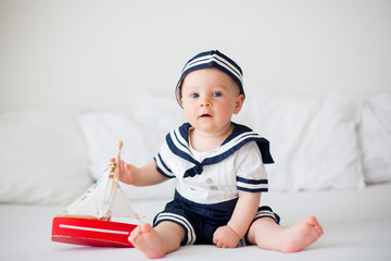
[[[114,162],[115,159],[112,159]],[[156,162],[150,161],[142,167],[128,164],[125,161],[119,163],[118,179],[134,186],[150,186],[165,182],[167,177],[156,170]]]

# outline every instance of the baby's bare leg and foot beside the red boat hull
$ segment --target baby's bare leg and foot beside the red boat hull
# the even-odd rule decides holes
[[[152,228],[150,224],[136,227],[129,236],[129,241],[148,258],[163,258],[166,253],[179,248],[185,231],[173,222],[162,222]]]

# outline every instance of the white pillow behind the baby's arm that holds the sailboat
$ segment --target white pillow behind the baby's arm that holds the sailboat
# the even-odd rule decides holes
[[[79,116],[88,145],[90,170],[94,179],[103,175],[109,161],[116,157],[116,142],[122,140],[122,159],[137,166],[153,160],[167,132],[153,123],[146,124],[129,114],[90,112]],[[174,127],[173,127],[174,128]],[[174,179],[149,187],[122,184],[130,199],[171,198],[174,195]]]

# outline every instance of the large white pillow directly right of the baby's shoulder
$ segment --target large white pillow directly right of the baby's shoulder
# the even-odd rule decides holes
[[[270,190],[365,186],[356,127],[360,102],[339,96],[252,99],[254,129],[270,141]]]

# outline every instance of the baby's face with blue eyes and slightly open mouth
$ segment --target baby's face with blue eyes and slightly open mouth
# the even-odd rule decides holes
[[[238,84],[215,67],[187,74],[179,99],[189,123],[202,132],[230,127],[231,116],[239,113],[243,100]]]

